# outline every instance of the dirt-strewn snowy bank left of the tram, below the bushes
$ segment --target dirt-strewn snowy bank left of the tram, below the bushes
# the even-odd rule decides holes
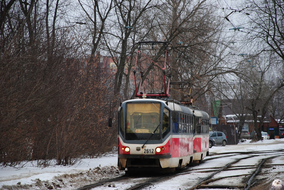
[[[116,168],[117,156],[83,159],[73,166],[33,165],[0,168],[0,189],[76,189],[124,174]]]

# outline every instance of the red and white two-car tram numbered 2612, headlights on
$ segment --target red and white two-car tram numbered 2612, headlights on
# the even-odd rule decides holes
[[[208,155],[209,116],[173,99],[143,98],[118,109],[118,168],[174,171]]]

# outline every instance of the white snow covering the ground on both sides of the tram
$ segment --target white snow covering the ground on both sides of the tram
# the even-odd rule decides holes
[[[272,139],[263,140],[251,143],[247,140],[238,145],[226,145],[225,147],[217,145],[209,149],[210,153],[226,153],[226,152],[236,152],[236,151],[269,151],[284,149],[284,139]],[[214,155],[212,155],[214,156]],[[208,156],[208,158],[212,157]],[[217,155],[216,155],[217,156]],[[218,155],[221,156],[221,155]],[[215,157],[215,156],[214,156]],[[195,166],[192,169],[210,168],[210,167],[222,167],[226,163],[232,161],[232,158],[237,159],[239,156],[233,156],[230,158],[220,158],[214,160],[208,160],[201,164],[200,166]],[[217,161],[218,160],[218,161]],[[284,156],[272,159],[272,164],[283,164]],[[253,165],[257,164],[257,159],[251,159],[251,164],[242,163],[241,165]],[[241,161],[239,162],[239,164]],[[103,179],[115,178],[124,174],[124,172],[118,171],[117,156],[94,158],[94,159],[84,159],[81,163],[75,164],[73,166],[49,166],[46,168],[38,168],[33,166],[33,163],[29,163],[22,168],[4,167],[0,168],[0,190],[22,190],[22,189],[57,189],[57,190],[68,190],[77,189],[84,185],[89,185],[101,181]],[[274,172],[272,176],[279,176],[283,179],[284,166],[277,167],[273,169],[272,167],[265,168],[262,173]],[[248,169],[248,172],[252,172],[253,169]],[[219,175],[232,175],[235,174],[234,171],[225,171]],[[189,187],[193,185],[196,181],[204,176],[209,175],[209,173],[192,173],[190,175],[180,176],[173,180],[163,181],[163,185],[155,185],[155,189],[172,189]],[[269,175],[269,174],[267,174]],[[214,176],[215,177],[215,176]],[[189,180],[189,178],[191,180]],[[176,186],[175,180],[184,181],[180,187]],[[192,180],[194,179],[194,180]],[[134,180],[134,179],[133,179]],[[140,179],[144,181],[145,179]],[[139,181],[130,181],[128,184],[123,184],[117,182],[115,189],[125,189],[131,185],[135,185]],[[18,184],[18,185],[17,185]],[[111,184],[112,185],[112,184]],[[104,184],[99,189],[108,188],[108,184]],[[149,187],[148,187],[149,188]],[[152,189],[153,189],[152,188]],[[150,188],[149,188],[150,189]]]

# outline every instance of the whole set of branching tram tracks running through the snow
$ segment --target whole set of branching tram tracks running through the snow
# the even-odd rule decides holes
[[[214,178],[214,179],[210,179],[212,176],[216,175],[217,173],[221,172],[221,171],[227,171],[227,170],[240,170],[240,169],[254,169],[254,168],[260,168],[261,165],[264,163],[262,162],[260,166],[255,166],[255,165],[245,165],[245,166],[230,166],[231,164],[234,164],[240,160],[243,160],[243,159],[247,159],[247,158],[252,158],[252,157],[255,157],[255,156],[265,156],[267,155],[268,153],[277,153],[277,152],[283,152],[284,149],[281,149],[281,150],[273,150],[273,151],[250,151],[250,152],[234,152],[234,153],[237,153],[237,154],[232,154],[232,153],[218,153],[218,154],[231,154],[231,155],[226,155],[226,156],[218,156],[218,157],[212,157],[212,158],[207,158],[207,159],[204,159],[202,160],[201,164],[203,162],[206,162],[208,160],[212,160],[212,159],[218,159],[218,158],[223,158],[223,157],[229,157],[229,156],[238,156],[238,155],[245,155],[245,154],[260,154],[260,155],[252,155],[252,156],[247,156],[247,157],[244,157],[244,158],[238,158],[236,160],[234,160],[233,162],[230,162],[229,164],[227,164],[226,166],[224,167],[211,167],[211,168],[197,168],[197,169],[189,169],[189,168],[192,168],[194,166],[187,166],[188,169],[183,169],[183,170],[179,170],[177,172],[175,172],[174,174],[168,174],[168,175],[164,175],[164,176],[159,176],[159,177],[154,177],[154,178],[151,178],[143,183],[139,183],[137,185],[134,185],[132,187],[129,187],[125,190],[133,190],[133,189],[139,189],[140,187],[143,187],[147,184],[151,184],[155,181],[160,181],[160,180],[164,180],[164,179],[167,179],[167,178],[174,178],[176,176],[181,176],[181,175],[186,175],[186,174],[191,174],[191,173],[208,173],[208,172],[214,172],[213,174],[210,174],[209,176],[205,177],[205,178],[202,178],[198,183],[196,183],[193,187],[189,188],[189,189],[186,189],[186,190],[192,190],[192,189],[195,189],[195,188],[199,188],[199,187],[205,187],[207,185],[206,188],[210,188],[210,185],[208,186],[208,183],[212,182],[212,181],[217,181],[217,180],[221,180],[221,179],[224,179],[224,178],[233,178],[233,177],[239,177],[239,176],[249,176],[251,174],[242,174],[242,175],[236,175],[236,176],[226,176],[226,177],[221,177],[221,178]],[[276,157],[276,156],[281,156],[281,155],[275,155],[275,156],[272,156],[272,157],[269,157],[269,158],[273,158],[273,157]],[[265,158],[265,160],[268,159],[268,158]],[[270,164],[270,165],[273,165],[273,164]],[[284,164],[283,164],[284,165]],[[240,168],[240,167],[250,167],[250,168]],[[206,170],[206,169],[209,169],[209,170]],[[203,170],[203,171],[198,171],[198,170]],[[259,169],[258,169],[259,171]],[[256,174],[258,173],[258,171],[256,172]],[[255,174],[255,175],[256,175]],[[254,175],[254,176],[255,176]],[[256,183],[257,181],[252,181],[253,177],[252,176],[249,180],[250,180],[250,184],[247,184],[249,185],[249,187],[251,185],[253,185],[254,183]],[[79,189],[76,189],[76,190],[87,190],[87,189],[91,189],[91,188],[94,188],[94,187],[97,187],[97,186],[100,186],[104,183],[110,183],[110,182],[115,182],[115,181],[120,181],[120,180],[127,180],[127,179],[130,179],[130,178],[133,178],[133,176],[129,176],[129,175],[123,175],[121,177],[118,177],[118,178],[112,178],[112,179],[107,179],[107,180],[103,180],[103,181],[99,181],[97,183],[94,183],[94,184],[91,184],[91,185],[87,185],[85,187],[81,187]],[[207,184],[206,184],[207,183]],[[243,187],[243,186],[242,186]],[[236,188],[236,187],[235,187]]]

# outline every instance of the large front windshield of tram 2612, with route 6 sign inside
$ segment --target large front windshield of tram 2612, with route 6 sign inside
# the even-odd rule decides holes
[[[126,140],[147,140],[161,122],[160,103],[126,104]],[[160,126],[150,140],[160,140]]]

